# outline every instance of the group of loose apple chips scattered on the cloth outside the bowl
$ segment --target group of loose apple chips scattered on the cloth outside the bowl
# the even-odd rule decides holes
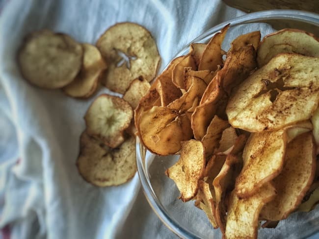
[[[21,73],[35,86],[87,98],[101,82],[124,94],[98,96],[84,116],[77,167],[87,182],[100,187],[123,184],[136,172],[133,109],[148,92],[159,62],[150,32],[134,23],[111,26],[96,46],[40,30],[29,34],[18,51]]]

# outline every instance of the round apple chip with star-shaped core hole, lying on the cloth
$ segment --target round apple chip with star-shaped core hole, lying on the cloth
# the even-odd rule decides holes
[[[102,83],[111,91],[124,94],[133,79],[143,76],[150,82],[155,77],[160,55],[144,27],[134,23],[115,24],[102,34],[96,46],[108,65]]]

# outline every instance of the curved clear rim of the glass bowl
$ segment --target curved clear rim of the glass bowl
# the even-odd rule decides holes
[[[191,43],[208,40],[214,33],[220,31],[220,29],[226,24],[231,24],[231,26],[236,26],[239,24],[249,24],[249,23],[255,23],[256,21],[265,21],[265,20],[294,20],[298,22],[312,24],[314,26],[319,27],[319,15],[315,13],[298,11],[298,10],[267,10],[267,11],[249,13],[210,28],[209,30],[207,30],[206,32],[204,32],[203,34],[201,34],[200,36],[192,40],[189,44],[187,44],[185,48],[183,48],[179,53],[176,54],[175,57],[185,54],[188,51]],[[160,203],[150,183],[148,171],[145,165],[145,153],[146,153],[146,149],[140,143],[139,138],[136,137],[137,172],[139,175],[139,179],[140,179],[145,197],[147,201],[149,202],[151,208],[156,213],[156,215],[158,215],[158,217],[165,224],[165,226],[168,227],[178,237],[185,238],[185,239],[198,238],[196,235],[194,235],[187,229],[181,227],[176,220],[171,218],[169,214],[167,213],[167,211],[165,210],[165,208],[163,207],[163,205]]]

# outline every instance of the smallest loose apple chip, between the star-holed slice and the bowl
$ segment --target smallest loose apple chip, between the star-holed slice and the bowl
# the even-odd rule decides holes
[[[140,76],[131,82],[129,88],[123,95],[123,99],[129,102],[132,108],[135,109],[139,100],[147,94],[150,87],[150,83]]]

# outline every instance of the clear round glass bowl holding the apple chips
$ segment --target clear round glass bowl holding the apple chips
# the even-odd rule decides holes
[[[270,10],[247,14],[218,24],[203,33],[191,43],[207,43],[226,24],[231,24],[222,48],[227,50],[230,42],[239,34],[261,30],[262,38],[285,27],[299,28],[318,35],[319,15],[294,11]],[[269,27],[271,24],[276,29]],[[177,55],[185,55],[188,44]],[[194,201],[183,203],[178,199],[180,192],[165,170],[175,164],[178,156],[158,156],[136,141],[137,171],[144,194],[160,220],[181,238],[221,238],[219,229],[213,229],[207,216],[194,206]],[[280,221],[275,229],[262,229],[258,238],[305,238],[319,231],[319,207],[309,213],[293,213]]]

